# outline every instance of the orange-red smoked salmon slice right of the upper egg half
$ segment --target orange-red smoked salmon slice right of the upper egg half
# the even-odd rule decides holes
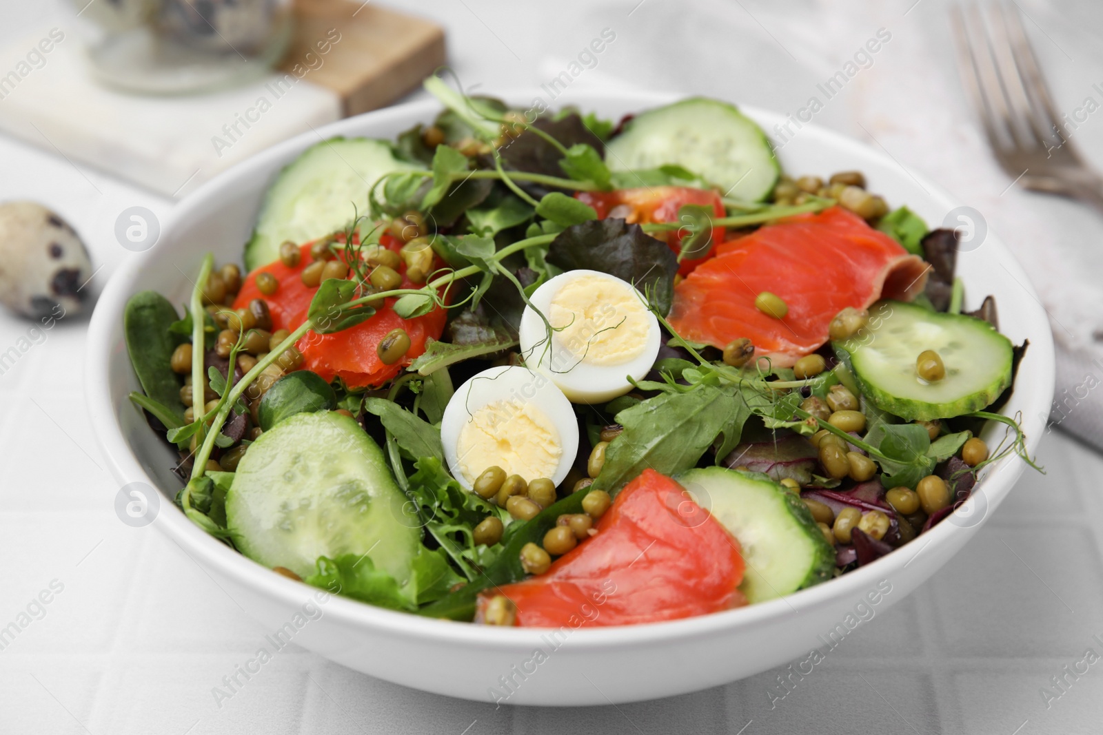
[[[674,289],[667,317],[685,339],[724,348],[747,337],[754,357],[791,367],[828,339],[846,306],[878,299],[911,301],[930,268],[888,235],[840,207],[761,227],[716,248]],[[762,291],[789,306],[778,320],[754,307]]]

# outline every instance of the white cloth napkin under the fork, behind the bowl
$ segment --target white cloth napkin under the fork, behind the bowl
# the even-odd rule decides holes
[[[649,3],[646,12],[612,20],[595,11],[592,20],[578,19],[579,25],[612,24],[624,39],[620,43],[651,44],[655,53],[619,55],[610,44],[578,84],[677,89],[795,111],[811,95],[822,96],[817,82],[879,39],[878,51],[814,122],[884,149],[983,215],[1030,274],[1050,315],[1058,349],[1051,420],[1103,448],[1103,390],[1094,390],[1103,382],[1103,249],[1096,246],[1103,214],[1026,192],[995,162],[961,84],[951,6],[951,0],[711,0],[695,3],[694,22],[672,3]],[[1103,18],[1082,18],[1090,9],[1060,0],[1020,0],[1016,7],[1059,110],[1072,114],[1088,96],[1103,105],[1103,94],[1092,86],[1103,80],[1103,57],[1084,30],[1103,26]],[[1097,10],[1103,15],[1103,7]],[[702,48],[722,48],[724,64],[695,73],[697,55],[715,62]],[[549,56],[537,74],[554,75],[567,61]],[[1103,114],[1079,125],[1072,140],[1103,171],[1101,120]]]

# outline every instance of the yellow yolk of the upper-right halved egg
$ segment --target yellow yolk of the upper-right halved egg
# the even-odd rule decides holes
[[[620,365],[646,347],[649,312],[628,283],[600,275],[571,279],[548,311],[556,341],[582,363]]]

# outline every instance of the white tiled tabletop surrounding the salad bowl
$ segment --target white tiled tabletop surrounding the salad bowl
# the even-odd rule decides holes
[[[739,4],[699,2],[694,3],[695,11],[708,22],[696,35],[687,28],[687,13],[671,0],[646,0],[631,15],[638,0],[555,3],[556,9],[524,12],[504,3],[465,0],[465,6],[431,3],[424,12],[449,25],[460,73],[488,87],[527,84],[535,88],[561,69],[601,28],[611,26],[618,40],[599,67],[588,72],[593,77],[618,75],[639,86],[711,90],[789,109],[802,101],[803,90],[821,75],[802,72],[805,54],[796,54],[801,62],[790,58],[763,29],[781,34],[779,41],[794,51],[825,44],[846,51],[869,34],[867,26],[892,24],[901,55],[927,53],[929,73],[944,77],[946,88],[959,95],[946,57],[944,8],[938,0],[925,0],[904,17],[912,1],[887,8],[874,2],[844,3],[845,10],[838,13],[846,18],[837,14],[826,25],[814,20],[785,21],[763,6],[746,2],[743,7],[763,26]],[[21,6],[0,2],[0,29],[6,19],[17,19],[10,25],[23,30],[34,13],[45,12]],[[825,12],[811,2],[797,3],[796,9],[810,19]],[[788,34],[782,33],[785,28]],[[852,28],[856,30],[847,30]],[[1079,56],[1074,35],[1043,28]],[[822,30],[837,40],[818,37]],[[1047,55],[1053,53],[1051,48]],[[751,66],[759,57],[761,63]],[[900,64],[886,56],[882,67],[892,72],[902,68]],[[884,78],[879,84],[886,84]],[[861,122],[892,147],[903,165],[935,177],[942,174],[951,190],[981,186],[968,172],[946,162],[945,155],[931,155],[930,148],[909,147],[902,138],[893,138],[893,129],[908,128],[909,110],[877,109],[860,89],[847,94],[853,96],[849,102],[826,109],[823,122],[857,133],[861,129],[855,122]],[[1078,97],[1071,94],[1059,101],[1072,104]],[[954,115],[963,115],[960,99],[945,104],[957,109]],[[981,155],[968,148],[975,143],[975,132],[965,138],[943,142],[957,155],[963,151]],[[1081,139],[1090,152],[1103,154],[1091,126],[1085,125]],[[990,166],[986,161],[983,164]],[[1003,185],[997,181],[988,187],[994,191],[984,190],[977,196],[996,197]],[[1083,242],[1070,257],[1097,268],[1099,256],[1089,249],[1097,240],[1101,224],[1093,215],[1018,192],[1007,196],[1015,207],[1049,218],[1054,239]],[[104,266],[100,279],[128,255],[111,235],[117,214],[136,204],[161,213],[170,206],[99,172],[76,171],[56,154],[0,140],[0,199],[17,197],[43,201],[68,217],[84,234],[96,264]],[[1005,236],[1016,233],[1019,225],[1014,209],[996,212],[989,224]],[[1014,236],[1007,239],[1016,245]],[[0,352],[25,335],[26,326],[0,314]],[[52,582],[54,590],[63,585],[42,607],[44,614],[32,609],[41,619],[25,626],[0,650],[0,733],[6,735],[1029,735],[1103,729],[1103,667],[1092,666],[1079,679],[1068,677],[1065,691],[1049,707],[1041,694],[1043,688],[1057,691],[1051,677],[1062,675],[1062,667],[1081,661],[1085,649],[1103,655],[1103,644],[1094,638],[1103,639],[1103,534],[1099,530],[1103,508],[1096,490],[1103,458],[1059,433],[1047,436],[1040,451],[1047,475],[1028,472],[976,539],[939,575],[863,624],[773,707],[769,692],[779,691],[780,671],[697,694],[620,707],[495,710],[492,704],[377,681],[293,645],[218,707],[212,688],[251,657],[268,631],[174,543],[151,529],[126,527],[116,518],[113,501],[118,488],[103,471],[82,394],[84,341],[85,322],[66,320],[14,368],[0,375],[0,562],[4,569],[0,627],[17,619]]]

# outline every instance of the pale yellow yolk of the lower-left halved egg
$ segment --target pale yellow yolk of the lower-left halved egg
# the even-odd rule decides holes
[[[494,465],[526,480],[552,477],[563,456],[555,423],[534,403],[520,399],[492,401],[473,411],[456,450],[469,483]]]

